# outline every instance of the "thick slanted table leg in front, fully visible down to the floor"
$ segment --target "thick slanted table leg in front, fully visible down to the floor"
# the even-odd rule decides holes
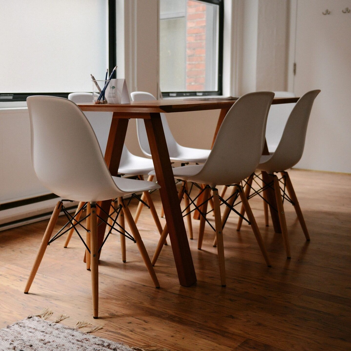
[[[144,119],[145,128],[149,139],[152,160],[154,161],[157,182],[161,185],[160,195],[178,278],[181,285],[190,286],[196,282],[196,274],[178,200],[161,116],[160,113],[150,113],[150,117],[150,119]]]

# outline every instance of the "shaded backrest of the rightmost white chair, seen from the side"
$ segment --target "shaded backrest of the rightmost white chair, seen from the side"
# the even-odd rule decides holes
[[[305,147],[308,120],[314,99],[319,93],[320,90],[307,92],[301,96],[291,111],[271,161],[281,164],[282,169],[279,171],[293,167],[301,159]]]

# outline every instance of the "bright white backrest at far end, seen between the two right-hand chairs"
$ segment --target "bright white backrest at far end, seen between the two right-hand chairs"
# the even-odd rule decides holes
[[[287,91],[275,91],[274,94],[274,98],[295,97],[294,93]],[[286,121],[288,120],[294,106],[295,102],[292,104],[272,105],[269,109],[266,127],[266,140],[269,152],[274,152],[277,149]]]

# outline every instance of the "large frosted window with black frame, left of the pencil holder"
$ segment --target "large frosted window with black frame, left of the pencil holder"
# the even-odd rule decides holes
[[[92,91],[116,65],[115,0],[0,0],[0,102]]]

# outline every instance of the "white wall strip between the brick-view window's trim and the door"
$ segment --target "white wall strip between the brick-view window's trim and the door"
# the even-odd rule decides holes
[[[288,0],[233,0],[236,94],[287,88]]]

